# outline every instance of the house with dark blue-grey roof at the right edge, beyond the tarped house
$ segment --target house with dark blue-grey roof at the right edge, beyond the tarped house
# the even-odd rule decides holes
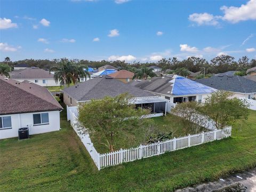
[[[217,90],[234,93],[233,97],[251,99],[256,97],[256,82],[241,76],[218,75],[197,79],[196,82]]]

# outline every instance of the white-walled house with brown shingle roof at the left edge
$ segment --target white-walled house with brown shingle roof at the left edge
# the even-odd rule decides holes
[[[0,90],[0,139],[18,137],[22,127],[29,134],[60,130],[63,108],[45,87],[0,76]]]

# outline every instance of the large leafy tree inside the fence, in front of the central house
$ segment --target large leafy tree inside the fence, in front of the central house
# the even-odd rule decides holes
[[[79,108],[79,122],[83,132],[106,139],[105,145],[110,151],[115,149],[116,139],[125,139],[125,133],[135,130],[148,130],[152,120],[141,118],[148,115],[150,110],[136,109],[126,93],[115,98],[105,97],[102,100],[92,100]],[[148,134],[146,134],[148,135]]]

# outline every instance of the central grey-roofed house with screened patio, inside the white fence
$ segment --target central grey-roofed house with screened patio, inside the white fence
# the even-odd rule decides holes
[[[150,108],[152,116],[166,114],[168,100],[144,91],[130,84],[125,84],[113,77],[101,76],[90,79],[62,90],[63,100],[69,107],[79,103],[90,102],[92,99],[102,99],[106,96],[116,97],[122,93],[132,95],[131,103],[136,107]]]

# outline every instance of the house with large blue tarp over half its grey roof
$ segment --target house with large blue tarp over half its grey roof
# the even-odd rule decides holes
[[[171,103],[204,102],[209,94],[216,91],[212,87],[178,75],[153,77],[145,81],[134,80],[131,84],[170,100]]]

